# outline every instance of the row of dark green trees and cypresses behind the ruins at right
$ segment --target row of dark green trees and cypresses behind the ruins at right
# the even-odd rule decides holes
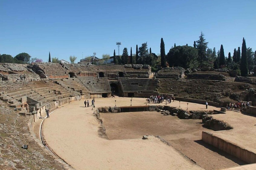
[[[160,54],[151,52],[151,48],[148,52],[147,42],[143,43],[138,48],[136,45],[136,53],[132,54],[132,48],[130,52],[130,61],[128,61],[128,51],[124,48],[122,56],[116,56],[114,50],[114,63],[115,64],[148,64],[154,68],[158,63],[161,63],[161,68],[167,67],[166,63],[172,66],[180,66],[185,69],[190,68],[203,68],[213,67],[215,69],[225,68],[228,70],[235,70],[237,75],[248,76],[254,70],[256,65],[256,51],[253,52],[252,48],[246,47],[245,39],[243,38],[242,48],[238,47],[234,49],[233,56],[228,53],[226,57],[224,54],[223,45],[216,52],[216,48],[208,48],[208,42],[204,38],[203,32],[199,36],[199,40],[194,41],[193,47],[186,45],[178,45],[174,43],[169,50],[165,53],[164,40],[161,38],[160,42]]]

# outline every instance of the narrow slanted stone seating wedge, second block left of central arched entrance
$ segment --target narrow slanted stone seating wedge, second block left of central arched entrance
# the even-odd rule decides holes
[[[89,94],[89,90],[78,78],[66,78],[55,81],[57,84],[78,91],[80,94]]]

